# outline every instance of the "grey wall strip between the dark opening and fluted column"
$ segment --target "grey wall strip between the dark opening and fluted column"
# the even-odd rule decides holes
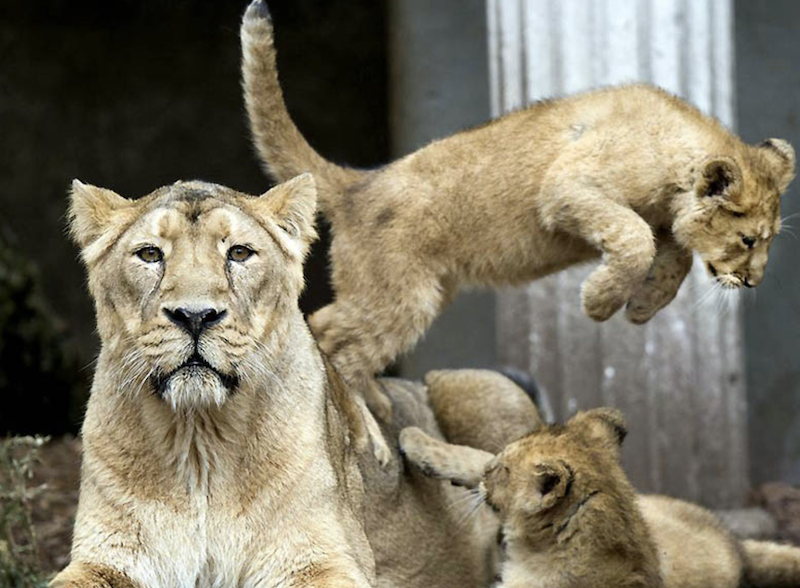
[[[483,0],[390,2],[393,155],[489,118],[485,15]],[[401,373],[494,365],[494,324],[493,293],[462,293],[401,361]]]

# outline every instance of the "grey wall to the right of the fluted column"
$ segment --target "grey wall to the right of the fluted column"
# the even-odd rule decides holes
[[[782,137],[800,151],[800,2],[736,2],[739,132],[746,141]],[[800,213],[800,182],[783,198]],[[800,218],[788,225],[800,226]],[[745,356],[753,483],[800,483],[800,242],[784,231],[767,279],[745,297]]]

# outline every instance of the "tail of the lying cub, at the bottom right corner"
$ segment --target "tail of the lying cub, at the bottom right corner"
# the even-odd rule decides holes
[[[753,588],[800,586],[800,548],[769,541],[742,542],[744,577]]]

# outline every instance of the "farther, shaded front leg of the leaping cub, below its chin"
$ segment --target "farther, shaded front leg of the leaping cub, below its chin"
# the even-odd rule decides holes
[[[691,269],[692,252],[678,245],[671,234],[660,233],[653,265],[628,300],[625,317],[637,325],[649,321],[672,302]]]

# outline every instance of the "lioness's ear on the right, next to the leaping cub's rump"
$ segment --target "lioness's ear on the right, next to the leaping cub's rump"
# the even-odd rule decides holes
[[[314,176],[305,173],[278,184],[256,198],[254,210],[272,220],[295,244],[293,250],[305,257],[309,245],[317,238],[314,215],[317,210],[317,185]]]

